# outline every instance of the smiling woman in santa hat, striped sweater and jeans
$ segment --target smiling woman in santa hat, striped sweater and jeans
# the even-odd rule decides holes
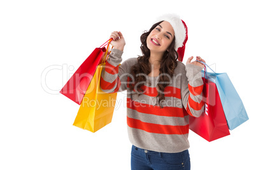
[[[161,18],[141,35],[143,55],[121,65],[124,36],[112,32],[114,48],[101,77],[106,93],[127,90],[132,169],[190,169],[188,115],[199,117],[204,110],[204,65],[192,62],[193,56],[186,65],[177,61],[185,25],[174,14]]]

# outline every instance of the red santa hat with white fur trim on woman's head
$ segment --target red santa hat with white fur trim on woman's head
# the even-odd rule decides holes
[[[188,40],[187,25],[180,19],[180,16],[174,13],[159,16],[156,22],[163,20],[169,22],[173,27],[175,36],[174,49],[178,52],[178,60],[182,62],[185,52],[185,44]]]

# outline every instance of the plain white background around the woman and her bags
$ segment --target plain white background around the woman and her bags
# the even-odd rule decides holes
[[[96,133],[73,126],[79,105],[58,92],[114,30],[123,61],[141,55],[154,18],[187,23],[185,58],[227,72],[250,120],[216,141],[190,131],[192,169],[255,168],[255,8],[253,1],[1,1],[0,169],[130,169],[125,93],[111,124]]]

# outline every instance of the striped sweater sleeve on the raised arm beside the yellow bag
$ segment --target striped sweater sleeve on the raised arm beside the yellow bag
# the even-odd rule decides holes
[[[105,93],[117,93],[127,89],[127,62],[122,62],[123,51],[111,49],[110,56],[101,72],[101,89]]]

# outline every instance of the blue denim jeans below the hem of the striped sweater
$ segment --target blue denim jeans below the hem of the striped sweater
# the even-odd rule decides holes
[[[132,145],[132,170],[189,170],[190,157],[188,150],[179,153],[164,153],[144,150]]]

